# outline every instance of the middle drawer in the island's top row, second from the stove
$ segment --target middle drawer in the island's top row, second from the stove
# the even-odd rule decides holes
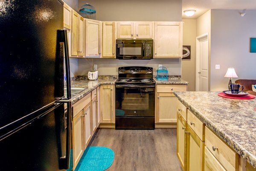
[[[190,110],[187,110],[188,125],[195,131],[197,136],[204,142],[204,127],[205,124],[201,122]]]

